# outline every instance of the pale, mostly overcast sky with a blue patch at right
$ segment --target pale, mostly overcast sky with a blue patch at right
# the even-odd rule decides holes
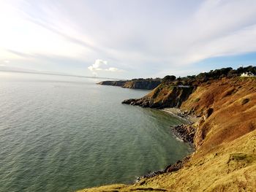
[[[0,0],[0,70],[187,76],[256,64],[255,0]]]

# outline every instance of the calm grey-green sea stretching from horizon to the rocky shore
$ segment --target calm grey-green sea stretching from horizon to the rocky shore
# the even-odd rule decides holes
[[[100,80],[0,72],[0,191],[75,191],[129,183],[190,152],[182,123],[121,104],[147,91]]]

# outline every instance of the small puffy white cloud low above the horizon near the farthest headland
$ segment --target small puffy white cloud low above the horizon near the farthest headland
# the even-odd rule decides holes
[[[92,72],[92,74],[97,75],[99,71],[105,72],[123,72],[121,69],[117,69],[115,67],[106,67],[108,66],[108,61],[103,61],[102,59],[97,59],[93,65],[89,66],[88,69]]]

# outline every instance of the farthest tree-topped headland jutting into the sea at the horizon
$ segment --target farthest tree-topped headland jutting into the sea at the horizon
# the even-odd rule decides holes
[[[118,80],[118,81],[102,81],[99,85],[113,85],[122,88],[136,88],[152,90],[161,83],[161,79],[133,79],[133,80]]]

